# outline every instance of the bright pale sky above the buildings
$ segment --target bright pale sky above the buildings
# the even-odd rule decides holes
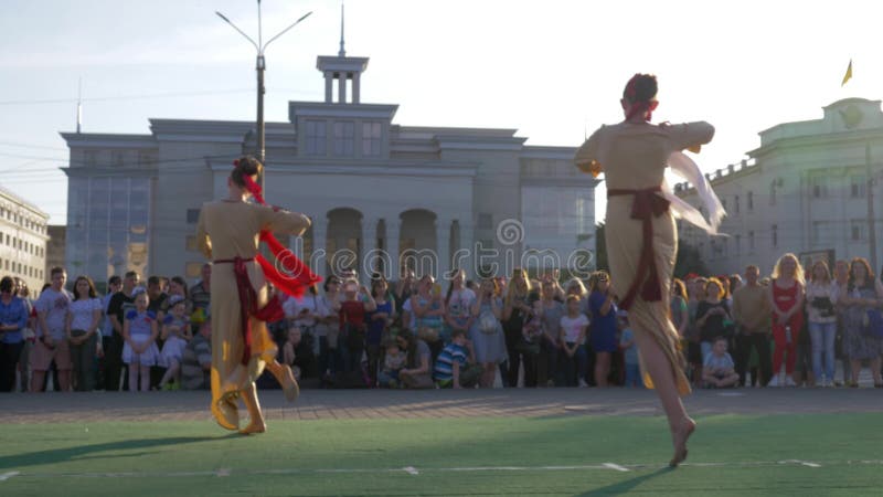
[[[83,133],[254,119],[255,49],[215,10],[256,38],[247,0],[0,2],[0,186],[65,223],[58,133],[75,130],[81,81]],[[268,121],[287,121],[289,101],[323,99],[316,57],[338,53],[340,1],[262,2],[265,40],[310,11],[266,51]],[[621,120],[632,74],[653,73],[655,120],[715,126],[696,158],[711,171],[745,158],[764,129],[883,97],[881,2],[348,0],[345,12],[347,54],[371,59],[362,102],[397,104],[404,126],[512,128],[528,145],[577,147]]]

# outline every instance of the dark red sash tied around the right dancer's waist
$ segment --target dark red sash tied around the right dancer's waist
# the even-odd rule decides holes
[[[628,310],[641,288],[641,298],[646,302],[659,302],[662,299],[662,288],[659,282],[659,271],[656,266],[653,256],[653,218],[659,218],[669,209],[669,201],[659,195],[661,187],[648,188],[645,190],[611,189],[607,190],[607,197],[635,195],[631,204],[631,219],[639,219],[642,223],[643,241],[641,243],[641,255],[638,260],[638,269],[635,272],[635,279],[628,287],[625,297],[619,302],[619,307]],[[642,287],[641,287],[641,284]]]

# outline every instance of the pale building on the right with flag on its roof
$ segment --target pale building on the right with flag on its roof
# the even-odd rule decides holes
[[[880,101],[847,98],[825,107],[821,119],[769,128],[748,157],[706,175],[726,209],[721,231],[728,236],[680,226],[681,240],[699,248],[714,274],[741,272],[747,264],[768,273],[786,252],[802,261],[866,257],[880,271]],[[695,204],[689,186],[675,191]]]

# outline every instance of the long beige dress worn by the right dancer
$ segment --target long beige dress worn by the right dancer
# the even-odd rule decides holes
[[[602,168],[607,190],[643,190],[662,186],[666,162],[673,151],[711,141],[714,128],[708,123],[656,126],[649,123],[620,123],[603,126],[576,152],[576,165]],[[605,237],[610,277],[617,295],[626,294],[638,271],[643,243],[642,221],[631,218],[635,197],[608,197]],[[678,230],[671,210],[652,218],[653,260],[659,276],[661,299],[646,302],[640,290],[628,309],[636,332],[649,332],[664,351],[680,394],[690,392],[683,371],[678,331],[669,315],[669,293],[678,254]],[[652,388],[648,374],[645,384]]]

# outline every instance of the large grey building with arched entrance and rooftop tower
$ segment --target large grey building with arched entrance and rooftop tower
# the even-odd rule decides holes
[[[574,148],[528,146],[515,129],[395,124],[396,105],[361,102],[368,62],[319,56],[325,101],[289,102],[289,120],[266,125],[266,198],[312,218],[290,244],[315,271],[568,268],[594,247],[596,181],[572,166]],[[226,195],[255,124],[153,118],[147,135],[62,136],[68,271],[196,277],[200,207]]]

